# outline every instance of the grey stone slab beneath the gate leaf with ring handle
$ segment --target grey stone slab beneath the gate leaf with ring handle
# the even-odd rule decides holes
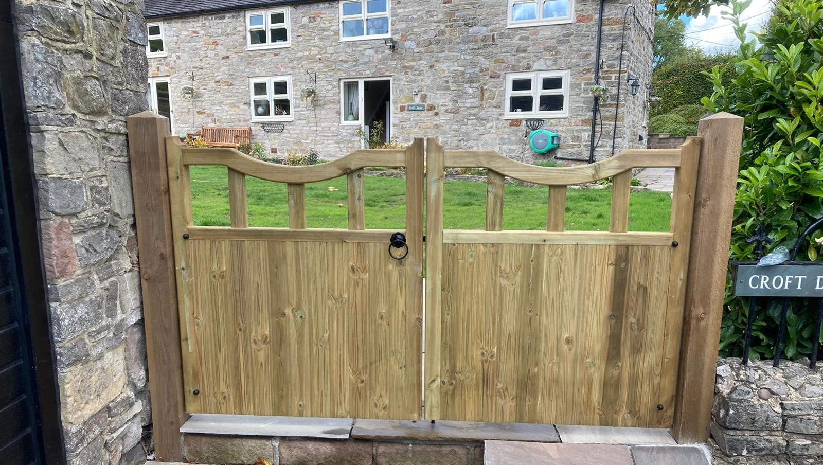
[[[180,432],[204,435],[348,439],[353,422],[351,418],[195,413],[180,427]]]

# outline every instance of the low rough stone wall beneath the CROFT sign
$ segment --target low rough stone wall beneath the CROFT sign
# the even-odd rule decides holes
[[[719,359],[711,434],[718,464],[823,463],[820,370]]]

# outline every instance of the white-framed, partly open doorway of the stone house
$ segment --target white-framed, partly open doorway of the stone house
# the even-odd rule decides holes
[[[392,80],[371,77],[342,81],[343,124],[356,124],[366,134],[379,132],[379,141],[392,139]]]

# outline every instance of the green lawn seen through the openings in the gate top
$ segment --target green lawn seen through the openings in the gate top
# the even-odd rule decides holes
[[[193,166],[192,202],[198,226],[229,226],[229,191],[226,168]],[[337,190],[329,190],[329,187]],[[249,177],[249,226],[287,227],[286,184]],[[546,227],[548,188],[507,184],[504,196],[504,230],[542,230]],[[346,178],[307,184],[306,226],[346,228]],[[406,222],[405,179],[365,178],[365,226],[402,229]],[[666,231],[672,201],[663,193],[632,193],[629,230]],[[566,202],[567,230],[608,230],[611,190],[570,188]],[[480,230],[486,225],[486,184],[446,181],[445,229]]]

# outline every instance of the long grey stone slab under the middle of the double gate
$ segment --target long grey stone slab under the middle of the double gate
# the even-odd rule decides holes
[[[554,425],[483,423],[480,421],[398,421],[356,419],[356,439],[416,439],[424,441],[485,441],[486,439],[560,442]]]

